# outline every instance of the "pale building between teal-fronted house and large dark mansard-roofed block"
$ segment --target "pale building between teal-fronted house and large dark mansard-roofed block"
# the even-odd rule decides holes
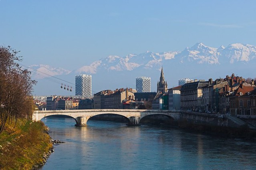
[[[181,85],[168,89],[169,110],[180,110],[180,90]]]

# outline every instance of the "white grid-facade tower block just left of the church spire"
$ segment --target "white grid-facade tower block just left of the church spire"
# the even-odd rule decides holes
[[[150,77],[137,77],[136,78],[136,90],[138,93],[151,91]]]

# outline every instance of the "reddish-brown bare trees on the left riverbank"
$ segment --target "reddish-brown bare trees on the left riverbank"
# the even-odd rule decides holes
[[[30,79],[30,72],[22,69],[17,57],[19,51],[10,46],[0,46],[0,133],[4,130],[7,119],[18,119],[26,106],[26,98],[31,95],[35,81]]]

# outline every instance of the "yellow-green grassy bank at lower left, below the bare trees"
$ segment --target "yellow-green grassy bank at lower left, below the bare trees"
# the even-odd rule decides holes
[[[0,134],[0,169],[29,170],[44,163],[44,154],[52,148],[50,136],[42,122],[26,119],[6,123]]]

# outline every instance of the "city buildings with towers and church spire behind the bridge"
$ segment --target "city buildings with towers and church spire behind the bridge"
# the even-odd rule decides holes
[[[168,89],[161,69],[157,92],[151,78],[137,77],[136,89],[102,90],[92,95],[91,75],[75,76],[75,96],[34,96],[39,110],[56,109],[160,109],[231,115],[256,115],[254,79],[227,75],[215,81],[182,78]]]

